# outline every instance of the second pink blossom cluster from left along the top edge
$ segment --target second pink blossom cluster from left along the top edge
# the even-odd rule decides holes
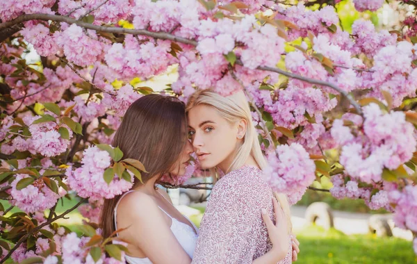
[[[109,0],[106,3],[102,0],[60,0],[58,12],[61,15],[68,15],[74,10],[70,16],[79,19],[93,10],[90,15],[94,15],[95,24],[117,23],[131,14],[133,2],[129,0]]]

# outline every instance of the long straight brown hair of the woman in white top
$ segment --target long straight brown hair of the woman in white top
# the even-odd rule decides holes
[[[155,176],[170,172],[177,164],[186,145],[186,122],[182,101],[149,94],[128,108],[112,145],[122,150],[123,158],[134,158],[143,163],[147,173],[142,172],[142,181],[146,183]],[[133,188],[140,184],[136,180]],[[105,238],[115,231],[113,212],[120,197],[104,200],[100,227]]]

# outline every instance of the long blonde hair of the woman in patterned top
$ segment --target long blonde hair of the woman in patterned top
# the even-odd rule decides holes
[[[232,95],[223,97],[211,90],[197,90],[188,100],[186,113],[188,113],[191,108],[199,104],[212,106],[218,110],[218,113],[230,124],[236,124],[236,122],[240,119],[245,119],[247,122],[243,143],[240,147],[238,147],[236,156],[227,169],[227,172],[237,170],[242,167],[250,155],[254,158],[261,170],[268,165],[262,154],[261,145],[259,145],[258,140],[258,133],[256,133],[255,126],[252,122],[250,107],[243,91],[235,92]],[[291,231],[291,212],[287,196],[285,194],[275,192],[275,197],[277,197],[277,200],[287,217],[288,230]]]

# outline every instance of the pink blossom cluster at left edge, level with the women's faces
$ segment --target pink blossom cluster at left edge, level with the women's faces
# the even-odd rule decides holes
[[[31,154],[39,153],[46,157],[57,156],[65,152],[70,145],[70,140],[61,138],[58,129],[60,127],[67,129],[70,139],[73,135],[72,130],[65,124],[58,126],[55,122],[33,124],[35,120],[40,118],[39,115],[24,117],[23,121],[28,126],[31,137],[24,138],[21,135],[17,135],[13,140],[3,142],[1,152],[12,154],[15,150],[21,152],[30,151]]]

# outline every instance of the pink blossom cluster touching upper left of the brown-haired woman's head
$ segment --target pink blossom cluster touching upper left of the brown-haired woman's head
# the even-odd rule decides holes
[[[124,116],[124,113],[126,113],[127,108],[140,97],[142,97],[142,95],[135,92],[132,85],[126,84],[117,90],[115,95],[104,94],[104,98],[101,100],[100,105],[103,105],[110,110],[114,110],[116,117],[122,117]]]

